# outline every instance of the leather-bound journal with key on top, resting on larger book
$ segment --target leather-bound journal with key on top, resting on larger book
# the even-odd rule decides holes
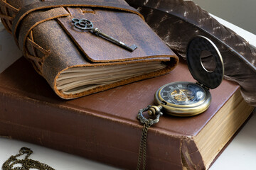
[[[156,77],[178,63],[124,0],[0,0],[0,18],[23,56],[61,98]]]

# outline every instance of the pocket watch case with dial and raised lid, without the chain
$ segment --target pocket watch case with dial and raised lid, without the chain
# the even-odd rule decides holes
[[[210,52],[215,69],[208,71],[203,66],[201,54]],[[178,81],[161,86],[156,91],[155,101],[164,108],[164,113],[176,116],[191,116],[203,113],[210,106],[211,96],[208,89],[214,89],[223,80],[223,59],[218,48],[208,38],[197,36],[188,42],[186,59],[188,69],[197,84]]]

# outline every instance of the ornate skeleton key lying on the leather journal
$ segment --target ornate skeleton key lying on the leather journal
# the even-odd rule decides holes
[[[92,33],[95,33],[95,35],[105,38],[106,40],[109,40],[110,42],[113,42],[116,45],[119,45],[120,47],[123,47],[126,50],[133,52],[135,49],[137,49],[137,45],[128,46],[124,42],[121,42],[115,38],[112,38],[112,36],[110,35],[102,33],[102,30],[100,30],[99,28],[93,28],[92,22],[85,18],[82,18],[82,19],[73,18],[72,21],[76,28],[80,30],[90,30]]]

